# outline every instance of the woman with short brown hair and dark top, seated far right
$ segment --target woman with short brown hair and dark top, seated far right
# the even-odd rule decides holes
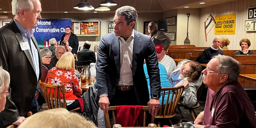
[[[235,55],[252,55],[253,52],[249,50],[249,47],[251,46],[250,40],[247,38],[241,39],[239,42],[239,45],[241,46],[241,50],[238,50],[234,53]]]

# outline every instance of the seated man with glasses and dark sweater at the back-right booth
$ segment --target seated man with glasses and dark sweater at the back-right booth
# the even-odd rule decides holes
[[[214,40],[212,41],[212,46],[210,46],[209,48],[204,49],[204,52],[202,53],[202,55],[200,56],[198,62],[200,64],[207,64],[212,56],[215,55],[223,55],[222,50],[220,50],[219,46],[221,43],[221,38],[220,37],[215,37]]]

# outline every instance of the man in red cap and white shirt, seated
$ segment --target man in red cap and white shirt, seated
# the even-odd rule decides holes
[[[157,55],[157,58],[158,58],[158,62],[160,64],[164,65],[164,67],[167,70],[168,77],[169,77],[171,72],[176,67],[176,63],[174,62],[174,60],[170,56],[165,54],[165,50],[164,50],[164,47],[162,45],[156,45],[155,48],[156,48],[156,55]]]

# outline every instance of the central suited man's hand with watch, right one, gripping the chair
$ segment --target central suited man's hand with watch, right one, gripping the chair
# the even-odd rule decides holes
[[[157,112],[160,108],[160,102],[159,102],[159,98],[151,98],[148,102],[148,106],[149,106],[149,113],[153,116],[153,115],[157,115]]]

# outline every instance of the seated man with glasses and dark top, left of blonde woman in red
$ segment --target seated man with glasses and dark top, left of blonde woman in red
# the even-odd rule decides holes
[[[50,64],[48,65],[48,69],[55,67],[60,57],[66,52],[63,46],[57,46],[55,56],[52,57]]]

